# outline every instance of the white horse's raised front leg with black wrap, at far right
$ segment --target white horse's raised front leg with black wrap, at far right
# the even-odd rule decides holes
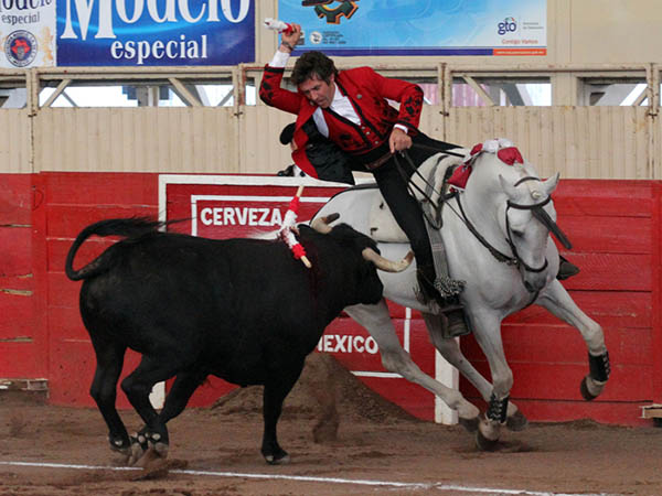
[[[536,300],[562,321],[576,327],[588,347],[589,374],[581,380],[581,396],[586,400],[597,398],[609,379],[609,353],[600,324],[586,315],[570,298],[560,282],[554,280]]]

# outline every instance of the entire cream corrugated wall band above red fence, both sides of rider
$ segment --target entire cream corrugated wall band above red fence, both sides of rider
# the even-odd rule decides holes
[[[543,176],[660,179],[662,130],[647,107],[426,106],[420,128],[472,147],[504,137]],[[0,172],[192,172],[275,174],[291,163],[280,144],[295,116],[233,108],[42,108],[31,145],[25,110],[0,111]],[[655,172],[652,166],[656,164]]]

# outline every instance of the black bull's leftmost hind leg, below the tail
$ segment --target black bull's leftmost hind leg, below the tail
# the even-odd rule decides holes
[[[97,359],[89,393],[96,401],[106,425],[108,425],[110,449],[128,456],[131,452],[129,434],[115,408],[117,381],[124,365],[126,346],[94,333],[89,335]]]

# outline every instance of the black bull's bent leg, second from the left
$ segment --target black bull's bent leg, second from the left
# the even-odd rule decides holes
[[[151,445],[156,452],[166,456],[168,454],[168,429],[152,407],[149,393],[154,384],[174,376],[181,368],[177,362],[156,360],[143,356],[140,365],[121,381],[121,389],[127,395],[131,406],[145,421],[145,427],[131,440],[131,457],[129,464],[136,463]]]

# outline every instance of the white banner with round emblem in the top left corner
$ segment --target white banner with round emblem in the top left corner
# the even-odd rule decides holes
[[[0,67],[55,65],[55,0],[0,1]]]

